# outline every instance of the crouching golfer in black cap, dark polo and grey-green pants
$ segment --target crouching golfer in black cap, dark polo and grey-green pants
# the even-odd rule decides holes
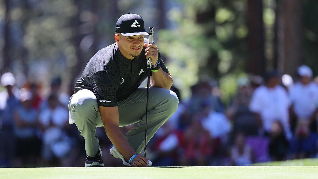
[[[103,126],[114,147],[110,154],[132,167],[148,167],[144,149],[147,58],[152,59],[147,141],[176,111],[179,100],[170,87],[173,79],[158,48],[148,43],[143,19],[124,14],[116,23],[115,43],[97,52],[74,86],[69,102],[70,124],[85,138],[85,167],[104,166],[96,127]],[[136,125],[125,135],[120,126]],[[149,165],[148,165],[149,164]]]

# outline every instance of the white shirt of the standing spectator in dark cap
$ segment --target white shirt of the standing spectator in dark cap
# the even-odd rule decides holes
[[[290,104],[286,89],[280,85],[276,85],[272,89],[262,85],[255,89],[249,107],[251,111],[259,113],[266,132],[270,132],[275,120],[280,120],[285,131],[289,132],[288,108]]]

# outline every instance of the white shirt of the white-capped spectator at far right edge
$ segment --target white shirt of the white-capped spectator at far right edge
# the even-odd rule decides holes
[[[296,82],[289,90],[289,96],[297,117],[308,119],[317,108],[318,85],[314,82],[308,85]]]

